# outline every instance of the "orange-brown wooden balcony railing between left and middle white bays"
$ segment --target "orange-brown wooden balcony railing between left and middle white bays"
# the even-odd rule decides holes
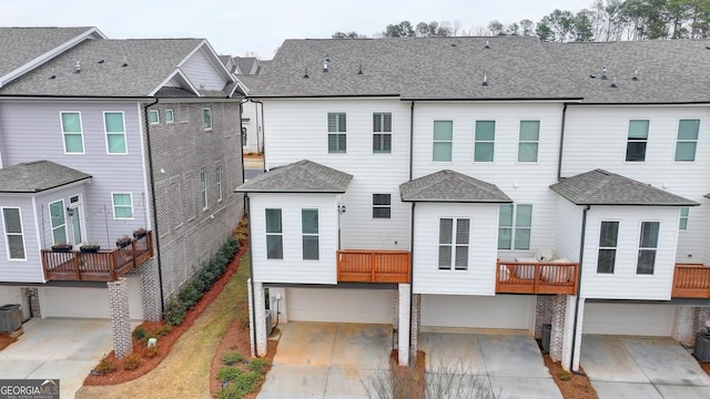
[[[337,252],[337,280],[353,283],[410,283],[408,250],[344,249]]]

